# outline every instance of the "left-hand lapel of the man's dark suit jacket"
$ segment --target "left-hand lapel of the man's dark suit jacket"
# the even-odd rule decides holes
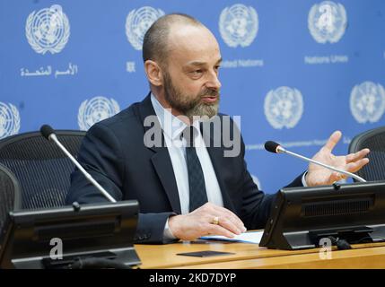
[[[153,110],[153,104],[151,102],[151,96],[149,94],[139,104],[139,117],[141,117],[142,123],[144,123],[145,117],[155,115],[156,114]],[[150,128],[161,129],[161,124],[157,119],[154,121],[154,125],[155,126],[144,126],[144,133],[147,132]],[[174,170],[172,168],[170,154],[164,142],[163,132],[162,146],[152,146],[148,147],[148,149],[154,152],[153,157],[151,158],[151,161],[153,162],[153,168],[161,180],[162,187],[164,188],[166,195],[169,198],[172,211],[174,213],[181,213],[177,182],[175,179]]]

